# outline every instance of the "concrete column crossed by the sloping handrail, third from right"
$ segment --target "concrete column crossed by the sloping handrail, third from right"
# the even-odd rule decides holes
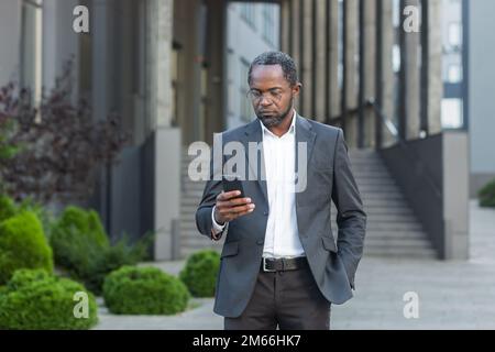
[[[376,35],[376,101],[384,116],[394,116],[394,70],[392,65],[392,48],[394,44],[394,26],[392,0],[377,0],[377,35]],[[391,145],[394,142],[392,133],[386,129],[380,117],[376,120],[376,144]],[[378,143],[380,141],[380,143]]]

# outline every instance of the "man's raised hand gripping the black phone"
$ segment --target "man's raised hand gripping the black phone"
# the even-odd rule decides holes
[[[251,198],[242,198],[241,190],[222,191],[217,196],[215,221],[219,224],[235,220],[254,211]]]

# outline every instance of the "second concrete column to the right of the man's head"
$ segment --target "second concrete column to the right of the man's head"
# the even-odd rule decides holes
[[[316,1],[316,57],[315,57],[315,116],[312,117],[315,120],[323,122],[327,120],[327,79],[329,69],[328,63],[328,51],[327,51],[327,0],[317,0]]]

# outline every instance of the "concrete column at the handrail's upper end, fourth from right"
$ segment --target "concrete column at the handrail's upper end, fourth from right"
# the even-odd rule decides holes
[[[374,110],[365,109],[365,101],[375,97],[376,79],[376,1],[360,0],[360,106],[359,146],[375,143]]]

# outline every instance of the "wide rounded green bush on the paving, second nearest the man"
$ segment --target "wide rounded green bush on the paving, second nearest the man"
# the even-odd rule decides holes
[[[106,277],[103,297],[117,315],[174,315],[186,309],[189,293],[156,267],[123,266]]]

